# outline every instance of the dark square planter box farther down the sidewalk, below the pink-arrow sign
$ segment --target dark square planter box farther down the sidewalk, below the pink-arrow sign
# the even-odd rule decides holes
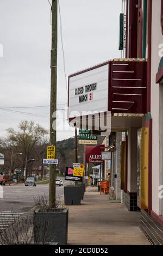
[[[82,186],[65,186],[64,198],[65,205],[80,205],[83,198]]]

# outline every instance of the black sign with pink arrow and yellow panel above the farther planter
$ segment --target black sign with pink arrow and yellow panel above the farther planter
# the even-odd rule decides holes
[[[84,174],[83,168],[66,167],[65,180],[82,181],[83,174]]]

